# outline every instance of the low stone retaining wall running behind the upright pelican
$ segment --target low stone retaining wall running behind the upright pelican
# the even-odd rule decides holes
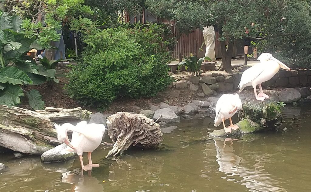
[[[187,88],[197,91],[199,96],[217,95],[217,92],[226,92],[238,90],[238,85],[243,71],[249,67],[243,67],[240,72],[228,74],[214,71],[210,74],[202,74],[202,77],[189,76],[183,80],[179,80],[169,85],[173,88]],[[311,86],[311,70],[280,70],[276,75],[267,82],[262,84],[262,87],[278,87],[278,88],[296,88]],[[203,93],[199,93],[202,90]],[[203,95],[204,94],[204,95]]]

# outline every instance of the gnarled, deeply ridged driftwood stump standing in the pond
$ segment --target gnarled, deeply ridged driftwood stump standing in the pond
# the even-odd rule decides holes
[[[154,148],[161,145],[160,125],[141,114],[118,112],[107,118],[108,135],[114,142],[107,158],[122,155],[130,146]]]

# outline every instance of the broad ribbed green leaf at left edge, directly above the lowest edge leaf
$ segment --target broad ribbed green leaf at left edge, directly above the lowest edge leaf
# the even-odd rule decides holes
[[[0,69],[0,82],[16,84],[32,84],[32,80],[22,70],[14,67],[3,67]]]

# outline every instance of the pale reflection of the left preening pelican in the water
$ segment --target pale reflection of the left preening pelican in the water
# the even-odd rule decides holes
[[[83,170],[81,173],[63,173],[62,182],[71,184],[72,192],[103,192],[103,185],[91,176],[91,171],[88,170],[88,175],[83,175]]]

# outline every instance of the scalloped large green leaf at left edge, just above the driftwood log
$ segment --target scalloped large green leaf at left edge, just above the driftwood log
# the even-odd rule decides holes
[[[0,103],[16,105],[21,103],[20,96],[24,93],[19,85],[7,84],[7,88],[0,91]]]

